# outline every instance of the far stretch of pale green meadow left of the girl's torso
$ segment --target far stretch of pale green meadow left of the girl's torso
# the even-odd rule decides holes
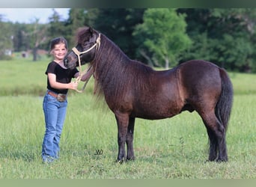
[[[50,59],[34,62],[22,58],[0,61],[0,96],[43,95],[46,87],[45,71],[49,61]]]

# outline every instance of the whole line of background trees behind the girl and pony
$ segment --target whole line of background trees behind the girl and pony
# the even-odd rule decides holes
[[[129,58],[154,67],[204,59],[231,71],[256,73],[255,8],[70,8],[63,19],[54,9],[47,24],[4,21],[0,14],[0,59],[7,49],[49,50],[64,36],[70,47],[84,25],[106,34]]]

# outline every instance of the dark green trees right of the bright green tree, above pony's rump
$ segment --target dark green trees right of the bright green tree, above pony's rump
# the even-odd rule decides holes
[[[193,41],[184,60],[204,59],[228,70],[256,70],[254,8],[179,9]]]

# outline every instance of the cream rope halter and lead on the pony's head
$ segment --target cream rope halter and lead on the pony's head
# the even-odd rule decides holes
[[[86,69],[82,71],[82,65],[81,65],[80,55],[85,54],[85,53],[87,53],[87,52],[90,52],[92,49],[94,49],[94,47],[96,47],[96,51],[97,51],[98,49],[100,49],[100,34],[99,34],[99,36],[97,37],[96,43],[94,43],[93,46],[91,46],[89,49],[87,49],[87,50],[85,50],[85,51],[83,51],[83,52],[79,52],[79,50],[77,50],[76,47],[73,47],[72,51],[76,54],[77,58],[79,59],[79,76],[76,78],[76,81],[75,81],[75,82],[79,83],[79,82],[81,81],[81,79],[82,79],[82,76],[85,75],[85,71],[86,71]],[[91,75],[92,75],[92,68],[91,68],[91,66],[88,68],[86,74],[87,74],[87,73],[89,74],[89,77],[86,78],[85,85],[83,86],[82,90],[79,91],[79,90],[77,90],[77,88],[76,88],[76,91],[79,92],[79,93],[82,93],[82,91],[85,90],[85,86],[87,85],[89,79],[91,78]]]

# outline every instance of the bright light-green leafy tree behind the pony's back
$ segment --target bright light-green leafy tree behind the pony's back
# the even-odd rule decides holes
[[[159,58],[159,64],[166,69],[170,63],[176,65],[177,58],[191,44],[184,18],[185,15],[177,14],[175,9],[147,9],[143,16],[144,22],[138,24],[133,32],[142,43],[141,54],[150,52],[151,55],[147,57]]]

